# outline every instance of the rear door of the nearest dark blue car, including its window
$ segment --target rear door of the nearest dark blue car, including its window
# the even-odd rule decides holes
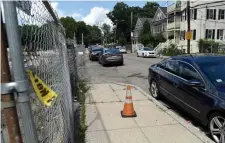
[[[179,78],[179,62],[168,60],[160,65],[158,82],[160,84],[160,91],[166,95],[168,99],[176,104],[182,104],[183,95],[179,94],[178,85]]]

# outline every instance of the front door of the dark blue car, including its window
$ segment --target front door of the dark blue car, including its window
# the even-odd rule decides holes
[[[203,78],[199,74],[199,72],[189,63],[180,61],[180,76],[183,78],[179,85],[179,92],[184,96],[184,106],[186,106],[186,110],[197,118],[201,118],[199,116],[204,111],[208,111],[210,108],[206,103],[212,102],[211,97],[208,96],[207,91],[204,87],[196,87],[188,84],[190,80],[199,80],[202,85],[205,85]],[[213,104],[213,103],[209,103]]]

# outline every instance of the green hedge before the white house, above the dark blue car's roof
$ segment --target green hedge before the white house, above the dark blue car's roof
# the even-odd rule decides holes
[[[199,39],[199,53],[218,53],[219,43],[214,40]]]

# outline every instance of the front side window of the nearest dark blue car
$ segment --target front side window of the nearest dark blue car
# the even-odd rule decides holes
[[[186,80],[193,80],[193,79],[201,80],[200,75],[191,65],[184,62],[180,62],[179,68],[180,68],[180,76],[182,78]]]

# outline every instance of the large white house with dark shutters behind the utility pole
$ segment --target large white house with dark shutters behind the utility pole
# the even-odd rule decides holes
[[[180,17],[180,41],[178,48],[187,52],[187,40],[185,32],[187,31],[187,2],[181,2]],[[190,42],[190,52],[199,52],[199,39],[212,39],[225,45],[225,1],[198,1],[190,2],[191,7],[191,31],[192,39]]]

